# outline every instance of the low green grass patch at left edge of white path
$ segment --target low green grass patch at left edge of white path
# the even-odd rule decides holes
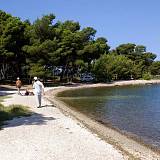
[[[10,105],[5,107],[0,104],[0,125],[3,125],[5,121],[15,117],[30,116],[31,113],[32,112],[26,106]]]

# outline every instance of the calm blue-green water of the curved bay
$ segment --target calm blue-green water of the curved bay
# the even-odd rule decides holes
[[[160,148],[160,85],[65,91],[65,103]]]

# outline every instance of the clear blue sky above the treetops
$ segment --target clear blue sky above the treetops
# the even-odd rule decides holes
[[[0,9],[35,21],[53,13],[56,20],[93,27],[111,48],[122,43],[144,45],[160,60],[160,0],[1,0]]]

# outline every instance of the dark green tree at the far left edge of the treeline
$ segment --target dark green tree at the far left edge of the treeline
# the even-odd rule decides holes
[[[26,43],[24,30],[25,23],[19,18],[0,11],[0,77],[2,79],[6,79],[8,74],[15,74],[15,76],[22,74],[21,64],[25,63],[22,47]]]

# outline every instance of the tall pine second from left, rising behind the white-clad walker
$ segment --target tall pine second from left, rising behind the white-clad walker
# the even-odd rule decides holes
[[[26,28],[25,34],[29,37],[30,43],[25,45],[23,50],[27,53],[26,62],[29,66],[30,75],[37,73],[46,77],[48,74],[44,74],[46,71],[44,68],[49,68],[55,62],[54,57],[56,57],[55,51],[57,50],[58,40],[55,31],[55,25],[57,24],[53,24],[54,19],[55,16],[53,14],[45,15]],[[34,64],[39,66],[39,68]]]

